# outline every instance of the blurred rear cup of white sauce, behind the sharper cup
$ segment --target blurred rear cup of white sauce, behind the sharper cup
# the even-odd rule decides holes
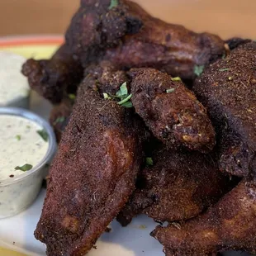
[[[21,73],[26,58],[10,52],[0,52],[0,107],[20,105],[29,97],[27,78]]]

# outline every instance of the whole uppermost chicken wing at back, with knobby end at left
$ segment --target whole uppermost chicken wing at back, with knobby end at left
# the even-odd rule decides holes
[[[191,80],[196,78],[196,66],[225,53],[225,42],[218,36],[160,21],[135,2],[118,2],[110,8],[111,0],[81,0],[65,45],[49,61],[30,59],[24,65],[31,88],[60,102],[66,88],[75,89],[83,78],[81,65],[86,69],[102,59],[119,69],[152,67]]]

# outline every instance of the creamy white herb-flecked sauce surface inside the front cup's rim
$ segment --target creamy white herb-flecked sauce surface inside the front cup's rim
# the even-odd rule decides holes
[[[43,128],[34,121],[0,115],[0,182],[16,178],[40,163],[49,148],[44,135]]]

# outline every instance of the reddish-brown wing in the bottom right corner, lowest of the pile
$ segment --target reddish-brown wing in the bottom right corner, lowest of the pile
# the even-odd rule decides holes
[[[256,254],[256,193],[239,183],[205,214],[178,228],[157,227],[154,238],[167,256],[208,256],[225,250]]]

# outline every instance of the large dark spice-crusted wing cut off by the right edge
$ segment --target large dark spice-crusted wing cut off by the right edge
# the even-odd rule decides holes
[[[220,167],[237,176],[255,172],[256,43],[241,45],[197,79],[193,88],[220,140]]]

